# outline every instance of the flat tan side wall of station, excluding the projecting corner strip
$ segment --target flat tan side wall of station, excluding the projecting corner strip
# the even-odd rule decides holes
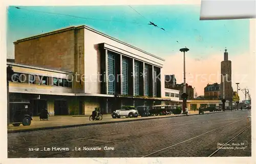
[[[74,30],[15,42],[15,62],[74,71]]]

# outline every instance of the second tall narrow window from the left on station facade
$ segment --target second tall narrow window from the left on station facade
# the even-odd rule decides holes
[[[128,95],[128,61],[122,58],[122,95]]]

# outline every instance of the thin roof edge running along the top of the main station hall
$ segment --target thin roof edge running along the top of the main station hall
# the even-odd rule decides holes
[[[155,56],[155,55],[152,54],[152,53],[146,52],[146,51],[144,51],[144,50],[142,50],[142,49],[140,49],[140,48],[137,48],[137,47],[135,47],[135,46],[133,46],[133,45],[127,44],[127,43],[125,43],[125,42],[123,42],[123,41],[120,41],[120,40],[118,40],[118,39],[115,39],[115,38],[113,38],[113,37],[111,37],[111,36],[109,36],[109,35],[106,35],[106,34],[104,34],[104,33],[101,33],[101,32],[99,32],[99,31],[97,31],[97,30],[95,30],[95,29],[93,29],[93,28],[90,28],[90,27],[87,26],[87,25],[71,26],[71,27],[69,27],[69,28],[64,28],[64,29],[55,30],[55,31],[52,31],[52,32],[49,32],[49,33],[44,33],[44,34],[35,35],[35,36],[31,36],[31,37],[24,38],[24,39],[19,39],[19,40],[13,42],[13,43],[14,43],[14,44],[17,44],[17,43],[19,43],[19,42],[23,42],[23,41],[27,41],[27,40],[31,40],[31,39],[36,39],[36,38],[45,37],[45,36],[48,36],[48,35],[53,35],[53,34],[57,34],[57,33],[62,33],[62,32],[66,32],[66,31],[76,30],[76,29],[82,29],[82,28],[87,29],[87,30],[90,30],[90,31],[92,31],[92,32],[94,32],[94,33],[97,33],[97,34],[99,34],[99,35],[102,35],[102,36],[104,36],[104,37],[107,37],[107,38],[109,38],[109,39],[112,39],[112,40],[114,40],[114,41],[117,41],[117,42],[119,42],[119,43],[121,43],[121,44],[123,44],[123,45],[129,46],[129,47],[134,48],[134,49],[136,49],[136,50],[139,50],[139,51],[141,51],[141,52],[143,52],[143,53],[146,53],[146,54],[148,54],[148,55],[150,55],[150,56],[152,56],[152,57],[155,57],[155,58],[157,58],[157,59],[159,59],[159,60],[165,61],[164,59],[162,59],[162,58],[160,58],[160,57],[158,57],[158,56]]]

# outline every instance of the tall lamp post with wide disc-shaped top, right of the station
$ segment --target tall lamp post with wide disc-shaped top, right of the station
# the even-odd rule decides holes
[[[186,67],[185,67],[185,52],[189,51],[187,47],[181,48],[181,52],[183,52],[183,74],[184,74],[184,81],[183,81],[183,93],[181,95],[182,97],[182,111],[183,114],[185,114],[185,108],[186,108],[186,100],[188,97],[188,94],[186,93]]]

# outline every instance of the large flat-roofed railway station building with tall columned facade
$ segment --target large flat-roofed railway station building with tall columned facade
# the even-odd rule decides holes
[[[164,59],[86,25],[14,42],[10,101],[27,100],[37,115],[104,114],[121,105],[156,105],[162,95]],[[162,79],[162,80],[161,80]],[[176,95],[177,96],[177,95]]]

